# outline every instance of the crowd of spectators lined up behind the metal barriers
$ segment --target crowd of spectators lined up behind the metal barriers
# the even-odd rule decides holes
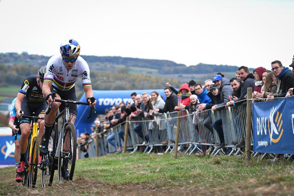
[[[166,83],[164,88],[165,100],[157,91],[153,91],[151,95],[134,92],[130,95],[131,103],[126,105],[126,103],[122,102],[106,110],[106,117],[102,119],[97,118],[91,126],[92,133],[81,134],[78,143],[80,143],[86,157],[87,145],[93,140],[91,135],[94,137],[96,134],[99,134],[100,138],[105,137],[107,141],[106,144],[102,145],[106,145],[107,148],[109,148],[109,144],[113,147],[118,146],[119,148],[116,149],[116,152],[119,152],[122,150],[122,144],[116,145],[114,133],[108,134],[107,130],[118,124],[125,123],[127,116],[129,119],[133,119],[136,117],[158,116],[161,113],[171,113],[180,110],[188,110],[190,113],[198,113],[204,110],[222,110],[244,103],[248,87],[253,89],[252,97],[255,99],[254,101],[268,101],[275,98],[292,96],[294,87],[294,56],[290,67],[292,70],[283,66],[280,61],[273,61],[270,70],[264,67],[257,67],[253,73],[250,73],[248,67],[241,66],[236,71],[234,78],[226,78],[222,73],[216,73],[213,78],[207,78],[203,83],[196,83],[194,80],[183,83],[178,90],[170,83]],[[222,119],[213,121],[211,115],[204,119],[203,123],[211,133],[213,133],[213,129],[216,130],[220,141],[217,150],[226,145],[222,123]],[[199,128],[195,120],[193,120],[193,124],[195,131],[198,131]],[[141,123],[136,124],[134,132],[140,138],[144,137]],[[124,130],[119,130],[118,136],[123,141]],[[145,139],[148,141],[148,138]],[[166,139],[162,142],[162,145],[167,145],[168,142],[168,139]],[[238,141],[233,141],[232,144],[237,148],[243,147],[245,145],[244,136]],[[201,145],[200,148],[202,152],[197,152],[195,155],[198,157],[205,156],[207,146]],[[161,149],[157,148],[157,150],[158,153],[162,153]],[[276,155],[275,159],[278,158],[280,158],[280,155]]]

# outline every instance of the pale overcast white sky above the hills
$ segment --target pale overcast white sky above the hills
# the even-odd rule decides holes
[[[0,53],[80,55],[265,67],[292,63],[294,1],[1,0]]]

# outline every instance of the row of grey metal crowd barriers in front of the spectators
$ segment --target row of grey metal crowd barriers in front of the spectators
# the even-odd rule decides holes
[[[232,144],[232,141],[240,142],[242,136],[245,136],[246,106],[246,104],[243,104],[222,110],[201,111],[195,114],[189,114],[187,110],[182,110],[178,145],[180,149],[184,148],[185,150],[181,151],[190,155],[194,150],[202,152],[199,145],[207,145],[212,147],[213,155],[224,153],[222,149],[216,150],[216,147],[220,144],[216,130],[214,129],[214,132],[211,133],[203,124],[204,120],[211,115],[213,123],[222,119],[225,148],[231,149],[229,155],[244,154],[240,148],[236,148]],[[164,146],[165,144],[162,143],[168,139],[165,153],[173,152],[175,150],[177,120],[177,111],[147,118],[131,119],[126,122],[129,123],[127,149],[132,149],[131,153],[133,153],[140,147],[143,152],[151,153],[154,148]],[[116,125],[103,133],[102,137],[99,137],[99,156],[120,152],[118,149],[123,148],[125,128],[125,123]],[[107,136],[104,136],[104,134]],[[113,135],[112,142],[107,141],[107,137],[110,135]],[[251,145],[253,145],[252,135]],[[80,154],[79,158],[83,158],[83,152]],[[88,145],[88,154],[89,157],[96,156],[96,142],[93,141]]]

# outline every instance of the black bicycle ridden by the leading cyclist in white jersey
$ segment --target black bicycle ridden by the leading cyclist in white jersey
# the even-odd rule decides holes
[[[55,93],[52,93],[52,99],[54,100]],[[88,102],[80,102],[73,100],[56,99],[56,102],[65,103],[64,110],[59,113],[54,121],[54,127],[52,129],[51,136],[49,138],[47,155],[42,155],[42,161],[38,167],[42,170],[42,186],[51,186],[54,177],[54,170],[58,170],[58,182],[63,183],[63,180],[72,180],[74,176],[74,167],[76,163],[76,128],[70,123],[69,106],[76,105],[90,105]],[[94,100],[91,102],[94,102]],[[51,105],[49,104],[46,114],[49,114]],[[93,105],[94,113],[95,106]],[[92,108],[88,119],[92,116]],[[63,117],[63,123],[61,125],[61,131],[58,137],[58,120]]]

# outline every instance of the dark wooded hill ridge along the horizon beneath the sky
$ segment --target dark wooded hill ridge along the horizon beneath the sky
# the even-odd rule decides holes
[[[154,70],[159,74],[207,74],[217,72],[235,72],[237,66],[228,65],[209,65],[199,63],[194,66],[186,66],[168,60],[141,59],[141,58],[126,58],[120,56],[87,56],[81,55],[91,65],[92,69],[98,71],[113,71],[121,67],[137,67],[148,68],[153,70],[144,71],[144,73],[154,73]],[[50,56],[29,55],[26,52],[18,53],[0,53],[0,63],[6,65],[34,65],[44,66],[47,64]],[[253,71],[253,69],[250,69]]]

